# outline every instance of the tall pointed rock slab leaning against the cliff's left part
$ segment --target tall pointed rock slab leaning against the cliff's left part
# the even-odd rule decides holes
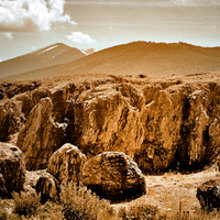
[[[66,127],[54,122],[52,109],[52,100],[43,98],[19,134],[18,146],[24,152],[28,169],[45,168],[53,152],[63,144]]]

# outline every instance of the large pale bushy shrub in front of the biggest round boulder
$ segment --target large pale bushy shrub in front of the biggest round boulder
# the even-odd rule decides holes
[[[109,219],[108,217],[112,212],[110,201],[100,200],[87,187],[76,184],[62,186],[61,201],[66,220]]]

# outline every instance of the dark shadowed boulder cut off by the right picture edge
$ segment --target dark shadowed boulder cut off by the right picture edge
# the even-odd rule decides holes
[[[205,182],[197,188],[197,198],[205,211],[220,210],[220,178]]]

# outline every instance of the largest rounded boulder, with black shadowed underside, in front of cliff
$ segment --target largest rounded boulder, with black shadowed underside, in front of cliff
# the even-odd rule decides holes
[[[145,194],[145,179],[135,162],[119,152],[105,152],[84,166],[84,185],[101,198],[127,200]]]

